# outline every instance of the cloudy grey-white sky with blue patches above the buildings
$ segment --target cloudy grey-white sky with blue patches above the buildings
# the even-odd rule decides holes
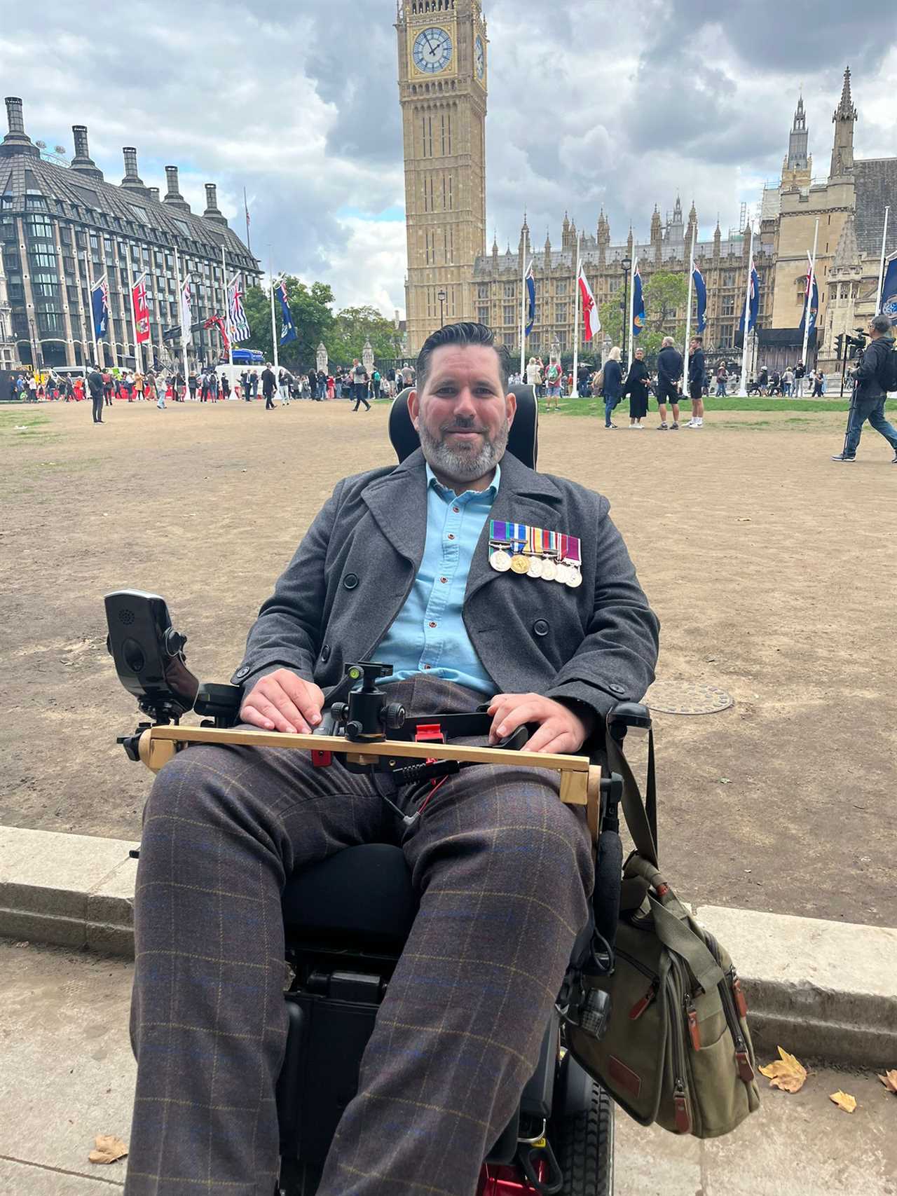
[[[4,0],[4,94],[32,139],[72,152],[86,124],[106,177],[139,150],[145,183],[205,207],[205,182],[267,267],[331,283],[340,306],[404,310],[395,0]],[[814,173],[853,69],[859,157],[890,157],[897,47],[843,0],[484,0],[488,230],[560,243],[565,209],[612,240],[647,236],[657,202],[695,200],[724,233],[774,179],[803,86]],[[849,47],[849,50],[848,50]]]

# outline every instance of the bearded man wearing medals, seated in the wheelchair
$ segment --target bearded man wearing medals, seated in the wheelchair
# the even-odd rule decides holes
[[[347,663],[374,654],[409,714],[488,706],[490,743],[526,726],[531,751],[599,750],[608,710],[641,698],[658,621],[608,501],[535,471],[531,388],[514,428],[507,370],[482,324],[427,340],[410,425],[403,399],[391,414],[399,464],[336,486],[262,605],[232,678],[243,724],[319,728]],[[476,764],[411,793],[379,775],[237,745],[159,773],[135,892],[128,1196],[270,1196],[281,896],[364,843],[402,848],[420,904],[317,1190],[477,1190],[587,922],[588,829],[555,771]]]

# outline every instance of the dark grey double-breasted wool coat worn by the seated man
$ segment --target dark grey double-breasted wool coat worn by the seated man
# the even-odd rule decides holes
[[[376,658],[423,556],[427,477],[416,450],[399,465],[343,478],[277,579],[246,640],[234,685],[275,669],[344,696],[344,666]],[[496,692],[582,702],[598,716],[639,701],[654,678],[659,623],[605,498],[506,453],[489,518],[578,536],[582,585],[489,565],[489,519],[464,597],[464,624]],[[389,661],[386,661],[389,663]]]

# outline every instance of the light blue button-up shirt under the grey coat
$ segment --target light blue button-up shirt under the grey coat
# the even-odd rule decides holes
[[[470,642],[462,609],[470,562],[500,482],[501,466],[496,465],[487,489],[456,494],[427,465],[427,539],[421,567],[404,606],[377,648],[377,659],[392,665],[389,681],[431,673],[487,697],[495,694],[495,683]]]

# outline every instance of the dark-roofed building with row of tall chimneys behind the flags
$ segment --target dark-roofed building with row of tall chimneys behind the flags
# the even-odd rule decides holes
[[[61,166],[42,158],[25,133],[22,100],[7,98],[6,110],[0,274],[6,277],[17,365],[83,366],[96,360],[91,286],[105,275],[109,332],[98,346],[99,364],[134,368],[130,288],[141,273],[151,337],[142,344],[144,366],[169,360],[163,330],[181,322],[176,250],[181,280],[190,274],[196,324],[225,312],[222,256],[228,279],[240,273],[244,282],[257,285],[258,262],[228,228],[214,183],[206,184],[206,210],[199,215],[179,194],[176,166],[165,167],[167,190],[160,199],[159,189],[146,187],[138,175],[136,150],[126,146],[124,177],[114,185],[90,157],[84,126],[73,126],[75,154],[69,166]],[[216,331],[197,329],[189,364],[216,358],[219,348]]]

